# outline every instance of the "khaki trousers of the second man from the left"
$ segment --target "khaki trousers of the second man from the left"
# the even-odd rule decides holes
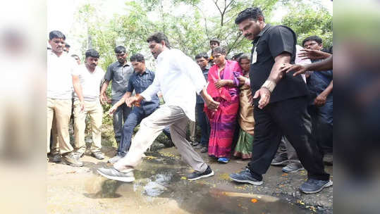
[[[103,108],[100,105],[99,99],[96,101],[85,101],[85,110],[80,111],[80,101],[74,101],[74,136],[75,136],[75,149],[79,153],[85,153],[85,129],[86,129],[86,115],[90,116],[92,141],[94,144],[91,146],[91,152],[100,151],[102,148],[102,126]]]

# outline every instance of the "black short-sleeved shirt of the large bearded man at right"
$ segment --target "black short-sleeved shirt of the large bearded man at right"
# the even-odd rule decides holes
[[[266,24],[262,32],[257,35],[253,44],[257,43],[257,61],[250,66],[250,83],[252,93],[262,87],[268,79],[274,65],[274,58],[283,52],[291,54],[290,63],[295,60],[295,44],[297,37],[295,32],[283,25],[271,26]],[[252,48],[252,53],[255,45]],[[307,95],[307,87],[300,75],[293,77],[293,72],[286,74],[276,85],[271,93],[269,103],[283,101],[297,96]],[[259,99],[254,99],[255,105]]]

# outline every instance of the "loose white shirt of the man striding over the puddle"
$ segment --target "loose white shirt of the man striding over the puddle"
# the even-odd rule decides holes
[[[180,106],[195,121],[195,92],[200,94],[205,85],[202,70],[195,61],[178,49],[168,49],[157,57],[154,81],[140,95],[149,101],[161,91],[165,105]]]

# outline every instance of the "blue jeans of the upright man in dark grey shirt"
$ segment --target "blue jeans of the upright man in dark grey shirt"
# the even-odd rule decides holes
[[[112,100],[112,106],[114,106],[114,104],[117,102],[118,100]],[[118,143],[121,141],[121,135],[123,132],[123,123],[125,123],[125,120],[127,120],[128,115],[130,114],[131,110],[132,108],[129,108],[127,105],[125,105],[125,103],[123,103],[123,105],[118,106],[118,108],[116,109],[114,113],[114,120],[113,120],[114,132],[115,132],[116,142]]]

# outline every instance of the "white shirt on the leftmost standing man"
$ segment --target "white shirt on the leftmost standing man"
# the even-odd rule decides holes
[[[78,64],[67,53],[56,56],[52,51],[47,51],[47,98],[72,98],[72,74],[77,67]]]

